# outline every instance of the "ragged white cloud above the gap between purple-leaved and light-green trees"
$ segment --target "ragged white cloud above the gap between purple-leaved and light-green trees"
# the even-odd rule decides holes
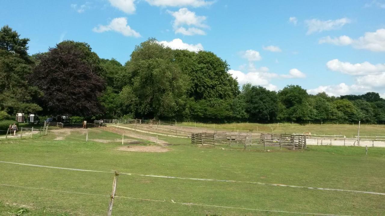
[[[92,29],[94,32],[108,32],[108,31],[114,31],[119,32],[124,36],[127,37],[141,37],[141,35],[136,32],[135,30],[131,29],[129,25],[127,25],[127,18],[126,17],[119,17],[114,18],[110,24],[108,25],[99,25],[98,27],[94,27]]]

